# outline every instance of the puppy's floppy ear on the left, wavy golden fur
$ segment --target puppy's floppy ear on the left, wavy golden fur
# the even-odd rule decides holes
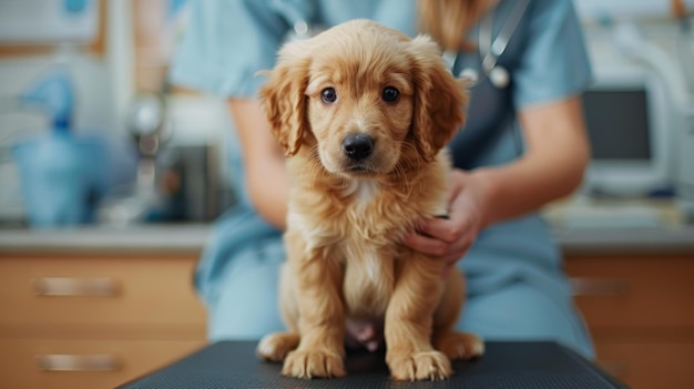
[[[310,131],[306,120],[306,85],[309,60],[302,53],[302,42],[286,44],[278,54],[275,69],[262,74],[269,76],[261,88],[259,98],[273,135],[285,154],[296,154],[304,133]]]

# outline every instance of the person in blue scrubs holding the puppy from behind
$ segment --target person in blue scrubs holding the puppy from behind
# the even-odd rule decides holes
[[[171,79],[229,101],[238,140],[229,163],[241,197],[215,223],[196,287],[211,340],[259,339],[283,329],[277,279],[287,181],[257,102],[265,79],[256,72],[273,68],[278,48],[304,23],[327,28],[368,18],[414,37],[419,12],[416,0],[203,0],[191,7]],[[573,4],[500,0],[460,39],[473,49],[447,48],[445,58],[455,74],[474,73],[478,82],[468,122],[450,144],[450,217],[427,221],[404,244],[465,272],[458,329],[487,340],[557,340],[591,358],[561,253],[537,213],[580,185],[589,160],[580,94],[591,71]],[[483,65],[490,50],[496,55]],[[379,345],[372,324],[350,324],[348,332],[351,342]]]

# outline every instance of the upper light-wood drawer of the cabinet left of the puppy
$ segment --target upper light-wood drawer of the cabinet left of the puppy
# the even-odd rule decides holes
[[[204,326],[193,256],[0,256],[0,325]]]

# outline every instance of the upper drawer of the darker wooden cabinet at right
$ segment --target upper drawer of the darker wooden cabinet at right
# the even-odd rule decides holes
[[[591,327],[693,327],[694,258],[568,257]]]

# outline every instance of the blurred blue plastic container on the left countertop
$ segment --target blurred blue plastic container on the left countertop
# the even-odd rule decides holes
[[[108,149],[98,137],[73,133],[74,93],[69,73],[57,69],[45,74],[20,100],[44,111],[51,122],[44,137],[13,146],[30,226],[94,222],[109,182]]]

